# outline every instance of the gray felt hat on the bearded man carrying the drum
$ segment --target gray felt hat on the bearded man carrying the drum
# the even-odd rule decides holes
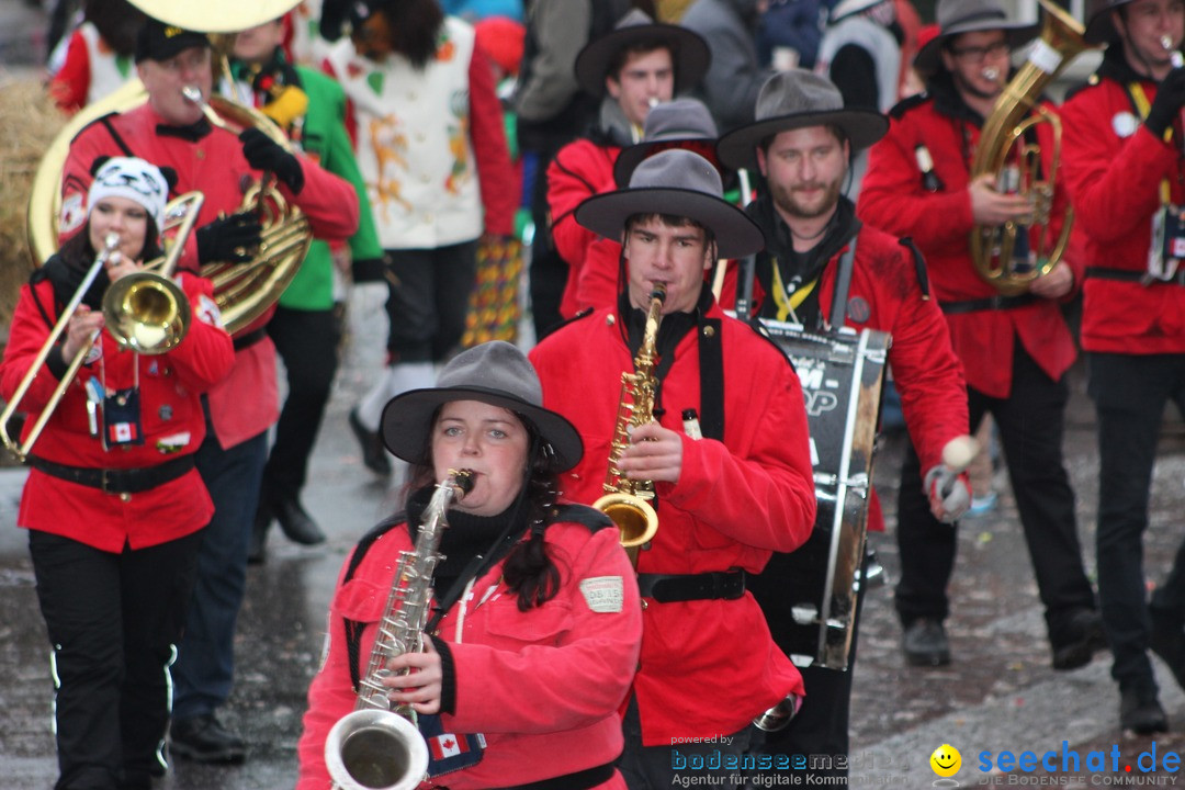
[[[735,168],[757,167],[756,148],[780,131],[835,126],[852,152],[867,148],[889,131],[889,118],[876,110],[845,108],[844,95],[820,75],[803,69],[780,71],[757,94],[756,121],[734,129],[716,144],[720,161]]]

